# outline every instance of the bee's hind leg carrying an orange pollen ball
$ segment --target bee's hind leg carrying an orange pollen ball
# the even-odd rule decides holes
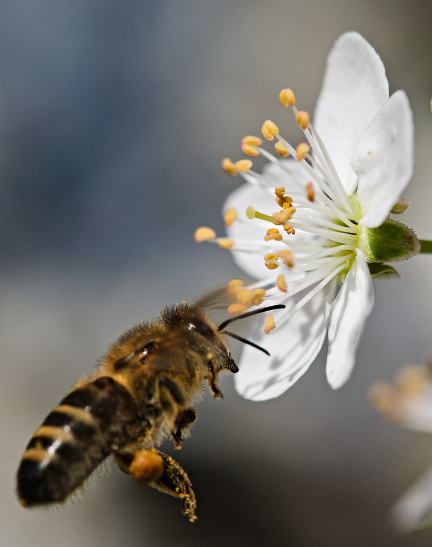
[[[124,473],[132,475],[138,482],[180,498],[182,513],[191,522],[197,520],[197,501],[191,481],[173,458],[152,448],[125,456],[116,453],[114,459]]]

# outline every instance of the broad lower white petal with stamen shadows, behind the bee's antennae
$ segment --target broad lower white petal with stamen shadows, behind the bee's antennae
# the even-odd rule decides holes
[[[303,375],[321,349],[326,337],[329,304],[336,292],[336,280],[328,283],[303,308],[278,329],[264,334],[264,320],[259,321],[251,340],[270,352],[245,346],[240,358],[240,371],[235,375],[235,388],[245,399],[262,401],[278,397]],[[289,309],[301,298],[289,299]],[[302,295],[303,296],[303,295]],[[273,312],[275,323],[286,310]]]

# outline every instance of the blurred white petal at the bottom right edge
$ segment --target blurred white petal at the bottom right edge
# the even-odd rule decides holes
[[[432,469],[424,474],[392,509],[392,520],[404,532],[432,522]]]

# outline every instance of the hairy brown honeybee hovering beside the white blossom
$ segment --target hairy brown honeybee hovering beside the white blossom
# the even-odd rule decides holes
[[[157,446],[170,435],[180,448],[197,418],[192,405],[205,383],[215,398],[222,398],[218,375],[238,372],[223,334],[268,354],[225,327],[281,307],[242,313],[216,327],[199,307],[183,303],[165,307],[160,318],[120,335],[97,370],[79,380],[33,434],[17,472],[21,504],[65,501],[113,456],[122,472],[180,498],[182,513],[196,520],[191,481]]]

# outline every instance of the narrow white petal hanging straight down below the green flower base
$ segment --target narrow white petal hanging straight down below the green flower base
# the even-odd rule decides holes
[[[374,307],[375,293],[364,254],[357,257],[330,307],[327,381],[338,389],[351,376],[366,318]]]

